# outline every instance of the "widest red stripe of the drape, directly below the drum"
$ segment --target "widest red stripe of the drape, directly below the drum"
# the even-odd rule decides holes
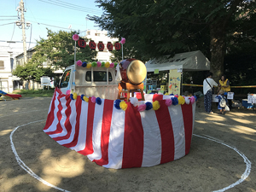
[[[141,167],[143,163],[143,124],[137,108],[127,102],[122,168]]]

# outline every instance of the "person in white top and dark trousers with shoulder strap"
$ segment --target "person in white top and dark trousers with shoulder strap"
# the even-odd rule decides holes
[[[218,84],[212,79],[212,73],[207,73],[207,78],[203,81],[203,91],[204,91],[204,105],[207,113],[212,112],[212,88],[213,86],[218,86]]]

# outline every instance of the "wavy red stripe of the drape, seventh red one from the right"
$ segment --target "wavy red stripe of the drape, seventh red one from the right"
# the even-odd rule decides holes
[[[55,137],[53,138],[55,141],[60,141],[60,140],[64,140],[64,139],[67,139],[70,137],[70,134],[71,134],[71,130],[72,130],[72,125],[70,124],[70,114],[71,114],[71,107],[70,107],[70,102],[71,102],[71,98],[67,95],[66,96],[66,106],[67,106],[67,109],[65,111],[65,114],[66,114],[66,121],[64,123],[64,126],[67,130],[67,135],[66,136],[62,136],[62,137]]]

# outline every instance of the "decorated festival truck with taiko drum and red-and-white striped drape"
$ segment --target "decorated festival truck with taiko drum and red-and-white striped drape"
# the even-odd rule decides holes
[[[189,154],[196,97],[144,94],[146,73],[135,59],[76,61],[55,88],[44,132],[106,168],[156,166]]]

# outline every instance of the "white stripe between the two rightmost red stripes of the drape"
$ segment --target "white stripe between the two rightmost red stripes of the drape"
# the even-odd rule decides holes
[[[181,105],[168,107],[172,120],[172,130],[174,137],[174,160],[177,160],[185,155],[185,131],[183,123],[183,113]]]

